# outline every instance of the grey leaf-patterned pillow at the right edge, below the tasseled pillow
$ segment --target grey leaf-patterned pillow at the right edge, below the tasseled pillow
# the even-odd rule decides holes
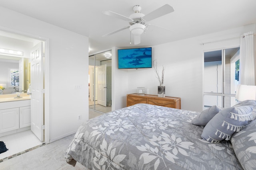
[[[240,164],[245,170],[256,169],[256,120],[230,139]]]

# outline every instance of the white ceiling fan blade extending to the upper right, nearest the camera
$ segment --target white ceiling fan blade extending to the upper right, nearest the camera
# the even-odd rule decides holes
[[[149,14],[145,15],[143,19],[145,21],[151,21],[154,20],[160,16],[164,16],[166,14],[169,14],[171,12],[174,12],[174,9],[169,4],[165,4],[164,6],[150,12]]]

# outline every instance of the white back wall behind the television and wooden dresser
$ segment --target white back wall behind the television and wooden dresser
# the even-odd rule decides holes
[[[153,60],[157,59],[159,69],[162,65],[166,67],[166,96],[180,97],[182,109],[202,111],[204,52],[238,47],[240,35],[248,31],[255,33],[255,30],[255,24],[252,24],[153,46]],[[157,94],[159,82],[153,68],[118,70],[117,55],[112,54],[113,58],[116,109],[126,106],[126,94],[136,93],[137,87],[145,87],[146,94]]]

